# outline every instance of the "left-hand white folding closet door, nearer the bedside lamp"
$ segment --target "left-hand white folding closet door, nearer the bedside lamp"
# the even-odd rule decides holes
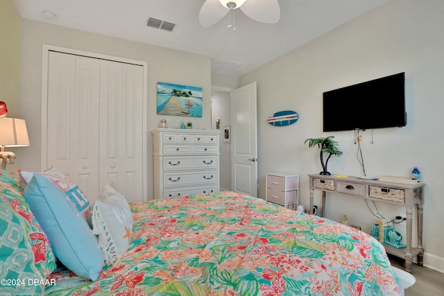
[[[99,196],[100,60],[49,53],[47,164]]]

